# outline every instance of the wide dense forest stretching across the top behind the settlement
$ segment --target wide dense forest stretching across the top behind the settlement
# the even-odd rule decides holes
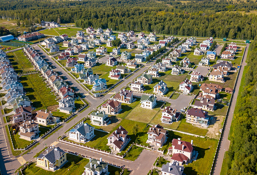
[[[20,20],[25,26],[41,20],[77,27],[118,31],[147,31],[182,36],[254,39],[257,3],[247,0],[1,0],[0,19]]]

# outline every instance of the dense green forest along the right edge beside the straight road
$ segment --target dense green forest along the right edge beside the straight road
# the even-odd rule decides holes
[[[237,97],[228,174],[257,174],[257,38],[249,47],[242,94]]]

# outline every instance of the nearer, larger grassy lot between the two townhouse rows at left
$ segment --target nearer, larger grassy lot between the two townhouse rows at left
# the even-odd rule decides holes
[[[27,92],[27,96],[33,102],[33,106],[39,109],[47,109],[48,106],[57,105],[51,89],[46,87],[44,79],[39,74],[21,76],[20,81]]]

